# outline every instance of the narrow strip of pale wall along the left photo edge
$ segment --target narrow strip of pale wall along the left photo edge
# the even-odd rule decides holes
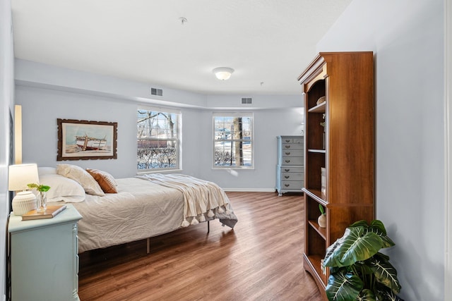
[[[6,300],[6,225],[9,215],[10,112],[14,97],[11,2],[0,0],[0,299]],[[12,111],[13,112],[13,111]]]

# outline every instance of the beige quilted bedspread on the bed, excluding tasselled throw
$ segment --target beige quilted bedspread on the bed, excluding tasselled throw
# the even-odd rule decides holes
[[[118,193],[104,197],[86,195],[84,202],[73,203],[83,216],[78,222],[78,251],[150,238],[181,228],[184,221],[184,194],[141,178],[116,179]],[[58,204],[53,202],[49,204]],[[237,216],[227,204],[227,214],[217,212],[231,228]],[[213,219],[207,218],[207,220]]]

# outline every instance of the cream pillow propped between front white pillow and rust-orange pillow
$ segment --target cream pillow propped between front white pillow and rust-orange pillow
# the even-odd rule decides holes
[[[88,171],[85,171],[85,169],[80,166],[58,164],[57,173],[61,176],[65,176],[66,178],[76,180],[80,185],[82,185],[85,192],[89,195],[99,195],[100,197],[105,196],[105,193],[93,176],[91,176]]]

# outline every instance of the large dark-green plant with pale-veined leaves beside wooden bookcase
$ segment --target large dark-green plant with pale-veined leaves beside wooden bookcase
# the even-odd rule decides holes
[[[357,221],[326,250],[323,265],[330,267],[328,300],[402,300],[396,269],[381,248],[396,245],[379,220]]]

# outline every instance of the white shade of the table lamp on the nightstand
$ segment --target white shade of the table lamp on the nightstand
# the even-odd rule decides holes
[[[8,168],[8,190],[27,190],[27,184],[37,184],[39,180],[36,164],[17,164]]]

